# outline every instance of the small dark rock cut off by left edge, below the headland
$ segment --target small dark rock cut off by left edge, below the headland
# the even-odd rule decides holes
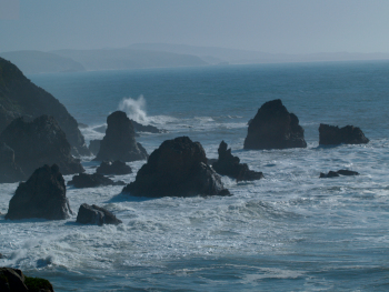
[[[14,151],[0,142],[0,183],[18,182],[24,179],[24,172],[14,162]]]

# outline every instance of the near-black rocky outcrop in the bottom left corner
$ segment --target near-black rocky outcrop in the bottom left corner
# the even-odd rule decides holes
[[[53,292],[46,279],[26,276],[19,269],[0,268],[1,292]]]

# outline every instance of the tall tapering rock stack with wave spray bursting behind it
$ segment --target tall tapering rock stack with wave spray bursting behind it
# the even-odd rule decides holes
[[[124,162],[148,158],[144,148],[137,143],[132,123],[122,111],[116,111],[107,118],[106,135],[94,160],[121,160]]]

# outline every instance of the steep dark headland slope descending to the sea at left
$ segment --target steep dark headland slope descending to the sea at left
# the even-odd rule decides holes
[[[33,84],[11,62],[0,58],[0,132],[16,118],[54,117],[73,153],[89,155],[77,121],[54,97]]]

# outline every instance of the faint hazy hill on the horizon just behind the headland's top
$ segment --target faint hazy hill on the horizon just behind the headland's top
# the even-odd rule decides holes
[[[84,71],[82,64],[72,59],[41,51],[2,52],[0,57],[11,61],[24,74]]]

